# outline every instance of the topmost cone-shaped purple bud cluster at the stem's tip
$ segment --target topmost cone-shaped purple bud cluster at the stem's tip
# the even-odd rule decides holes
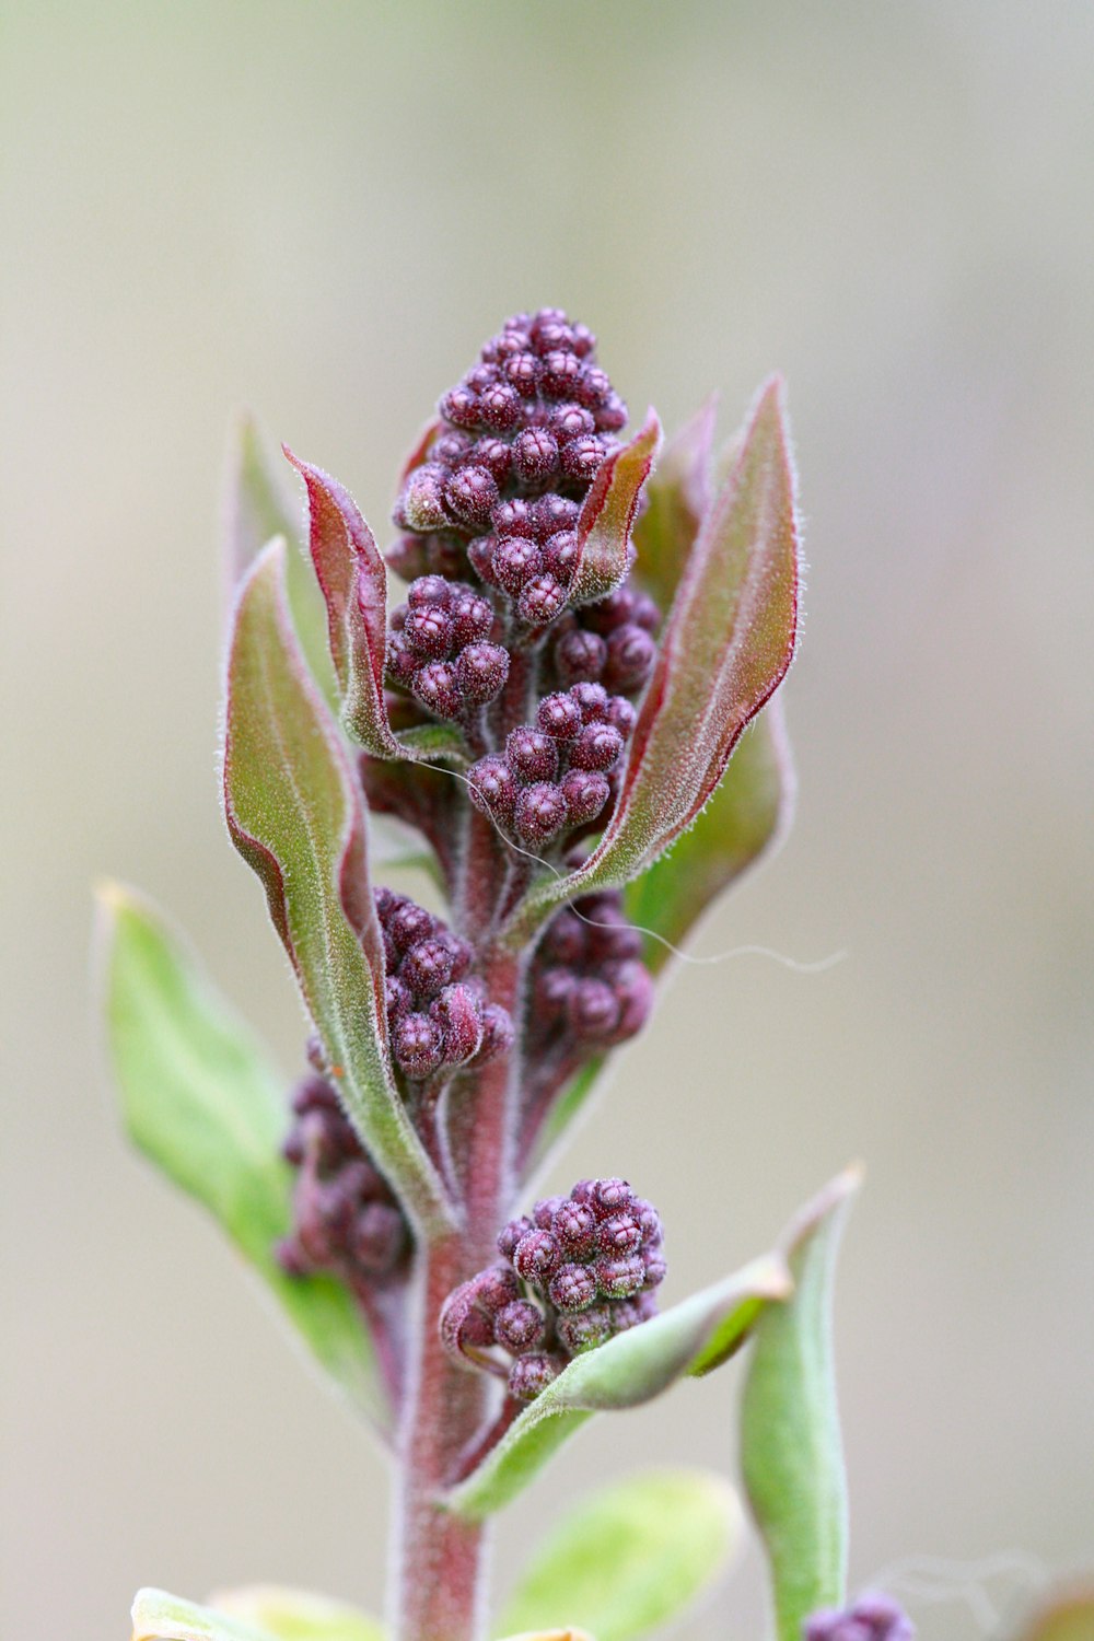
[[[615,450],[627,405],[595,364],[595,336],[561,309],[517,313],[440,402],[440,427],[407,474],[389,563],[479,579],[528,627],[566,606],[581,499]]]

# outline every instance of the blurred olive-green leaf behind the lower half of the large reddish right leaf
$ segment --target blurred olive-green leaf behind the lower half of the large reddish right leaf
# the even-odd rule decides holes
[[[781,840],[792,806],[794,768],[776,696],[741,735],[695,824],[627,884],[627,916],[648,930],[643,958],[654,975],[718,894]]]

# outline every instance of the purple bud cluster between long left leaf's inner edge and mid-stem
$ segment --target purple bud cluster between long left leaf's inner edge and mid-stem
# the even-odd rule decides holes
[[[376,889],[384,937],[387,1029],[395,1063],[410,1081],[474,1062],[513,1040],[508,1011],[487,1003],[471,975],[472,948],[423,906]]]

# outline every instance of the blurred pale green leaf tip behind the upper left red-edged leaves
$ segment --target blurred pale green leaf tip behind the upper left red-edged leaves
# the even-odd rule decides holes
[[[269,540],[282,535],[289,543],[285,587],[292,622],[312,676],[323,691],[326,704],[336,707],[338,686],[326,648],[326,609],[300,545],[299,509],[285,499],[267,461],[258,423],[249,414],[238,418],[231,440],[225,523],[230,596],[235,596],[239,581]]]

